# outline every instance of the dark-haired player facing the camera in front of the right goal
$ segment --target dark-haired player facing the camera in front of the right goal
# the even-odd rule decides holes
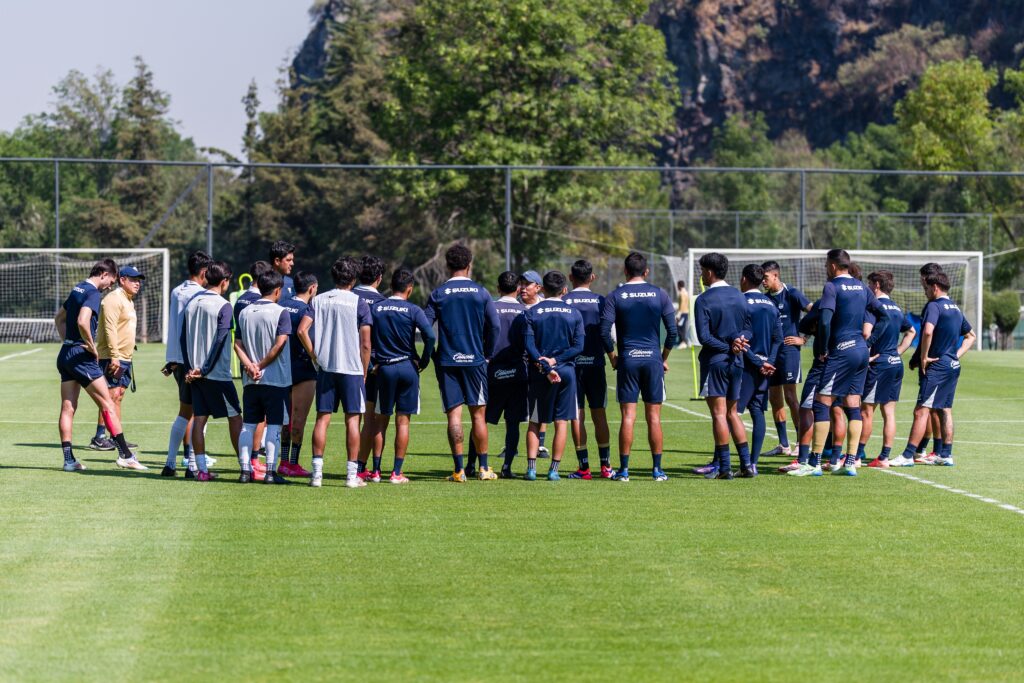
[[[778,445],[765,455],[793,457],[797,454],[790,447],[785,409],[790,409],[793,421],[799,423],[800,403],[797,401],[797,385],[803,379],[800,349],[804,346],[799,326],[801,314],[810,310],[811,304],[803,292],[782,282],[778,261],[765,261],[761,267],[765,271],[765,294],[778,306],[779,321],[782,324],[782,346],[778,349],[778,355],[772,360],[775,372],[768,379],[768,398],[775,419]]]

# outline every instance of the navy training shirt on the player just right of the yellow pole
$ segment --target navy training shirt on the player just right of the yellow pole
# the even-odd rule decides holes
[[[738,337],[752,339],[751,311],[746,299],[735,287],[719,281],[705,290],[693,302],[693,325],[700,342],[701,364],[733,362],[742,365],[742,356],[732,352]]]

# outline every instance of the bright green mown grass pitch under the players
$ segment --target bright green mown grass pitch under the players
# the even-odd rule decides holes
[[[176,394],[160,346],[140,349],[125,403],[153,469],[85,447],[85,399],[89,469],[60,471],[56,347],[35,348],[0,346],[0,679],[1024,678],[1024,514],[998,505],[1024,507],[1022,352],[967,356],[957,467],[908,471],[962,493],[878,471],[795,480],[780,460],[755,480],[690,475],[711,434],[688,351],[670,373],[668,482],[642,431],[628,484],[444,482],[428,373],[413,482],[344,488],[336,421],[317,490],[237,484],[222,422],[221,479],[161,478]],[[897,451],[915,391],[911,377]]]

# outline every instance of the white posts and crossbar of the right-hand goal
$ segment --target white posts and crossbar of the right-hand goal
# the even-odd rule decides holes
[[[824,268],[825,254],[827,250],[825,249],[710,249],[710,248],[696,248],[690,249],[686,253],[687,259],[687,270],[689,271],[687,282],[689,283],[690,292],[693,295],[698,293],[698,290],[694,289],[694,285],[697,285],[697,279],[700,274],[700,267],[697,265],[697,260],[703,254],[711,252],[716,252],[722,254],[729,259],[730,263],[733,261],[734,256],[745,256],[750,257],[751,254],[756,253],[758,260],[768,261],[772,259],[782,258],[794,258],[794,257],[820,257],[821,267]],[[975,276],[977,282],[975,283],[975,310],[976,319],[971,321],[974,327],[975,334],[977,335],[977,340],[975,341],[975,348],[981,349],[981,339],[982,339],[982,302],[983,302],[983,292],[984,292],[984,265],[985,265],[985,254],[980,251],[899,251],[899,250],[852,250],[849,252],[850,258],[854,261],[857,260],[872,260],[872,259],[891,259],[893,261],[905,260],[907,262],[920,262],[927,263],[929,261],[939,261],[939,260],[957,260],[957,261],[976,261],[978,264],[977,272]],[[730,273],[735,281],[738,278],[738,271],[735,273]],[[864,273],[865,275],[867,273]],[[813,298],[813,297],[811,297]]]

